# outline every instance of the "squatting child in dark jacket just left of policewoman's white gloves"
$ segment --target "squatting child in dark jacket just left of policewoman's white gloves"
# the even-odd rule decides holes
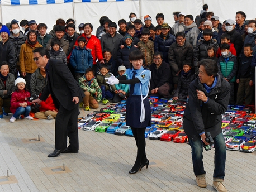
[[[109,85],[107,80],[105,80],[105,78],[111,77],[111,73],[108,73],[108,71],[108,66],[103,64],[101,65],[101,69],[99,69],[99,72],[96,76],[99,87],[101,87],[103,104],[107,104],[109,102],[107,99],[113,99],[113,92],[118,93],[115,85]]]

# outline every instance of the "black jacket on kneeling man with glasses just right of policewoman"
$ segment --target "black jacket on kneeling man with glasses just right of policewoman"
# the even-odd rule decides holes
[[[168,63],[162,61],[162,64],[157,69],[155,63],[150,65],[149,70],[151,71],[150,89],[159,88],[165,83],[170,83],[170,66]]]

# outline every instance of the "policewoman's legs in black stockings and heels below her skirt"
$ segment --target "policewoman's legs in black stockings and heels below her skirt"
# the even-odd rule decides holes
[[[145,128],[134,128],[131,127],[132,133],[134,134],[134,138],[137,146],[137,157],[132,167],[132,170],[136,170],[139,168],[140,164],[144,164],[148,159],[146,158],[146,140],[145,140]]]

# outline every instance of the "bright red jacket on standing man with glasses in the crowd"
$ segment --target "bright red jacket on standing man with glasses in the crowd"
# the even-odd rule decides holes
[[[90,38],[87,38],[86,35],[83,33],[79,37],[86,38],[86,40],[87,40],[86,48],[91,50],[91,54],[92,54],[92,57],[93,57],[93,65],[96,65],[96,58],[99,61],[103,59],[102,50],[101,50],[101,41],[99,41],[99,39],[95,35],[92,35]],[[78,46],[77,41],[75,41],[75,45]]]

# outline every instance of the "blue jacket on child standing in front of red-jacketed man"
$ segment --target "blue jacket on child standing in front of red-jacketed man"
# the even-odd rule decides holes
[[[79,46],[76,46],[70,56],[69,63],[75,70],[75,73],[85,73],[86,69],[92,67],[92,54],[91,51],[84,47],[81,49]]]

